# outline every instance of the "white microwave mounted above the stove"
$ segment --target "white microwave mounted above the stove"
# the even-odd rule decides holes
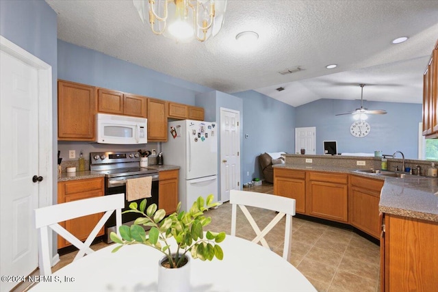
[[[97,143],[145,144],[147,143],[147,119],[111,114],[97,114]]]

